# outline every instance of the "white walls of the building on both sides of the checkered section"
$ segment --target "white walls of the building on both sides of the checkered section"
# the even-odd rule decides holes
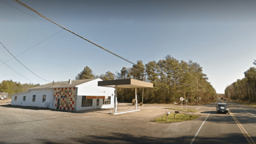
[[[114,108],[114,90],[115,88],[108,87],[98,87],[98,81],[101,79],[92,80],[83,84],[76,86],[77,89],[77,100],[76,100],[76,111],[84,109],[95,109],[95,108]],[[53,104],[53,90],[54,89],[38,89],[31,90],[23,94],[14,94],[12,96],[11,105],[21,105],[21,106],[37,106],[37,107],[52,107]],[[113,94],[113,96],[112,96]],[[32,101],[33,95],[36,95],[35,101]],[[46,100],[43,101],[43,95],[46,95]],[[17,96],[17,100],[14,100]],[[26,96],[26,100],[23,101],[23,96]],[[92,106],[82,107],[82,96],[111,96],[111,104],[103,105],[103,99],[99,99],[99,106],[96,106],[97,99],[92,100]]]

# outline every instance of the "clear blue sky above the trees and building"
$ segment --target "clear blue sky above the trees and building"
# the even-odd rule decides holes
[[[218,93],[242,79],[256,59],[256,1],[21,2],[134,63],[159,61],[168,54],[197,62]],[[0,20],[0,42],[13,55],[62,30],[14,1],[0,1]],[[0,45],[0,59],[6,62],[11,58]],[[85,66],[95,75],[132,67],[65,30],[17,58],[48,81],[75,79]],[[2,64],[0,81],[49,83],[15,59],[6,64],[23,77]]]

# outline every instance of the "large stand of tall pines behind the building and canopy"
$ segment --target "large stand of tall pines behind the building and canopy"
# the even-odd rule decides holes
[[[133,67],[122,67],[116,74],[107,71],[105,74],[94,75],[86,66],[76,75],[75,79],[100,78],[102,80],[136,79],[152,82],[154,88],[139,88],[138,101],[144,103],[180,102],[180,97],[188,99],[189,103],[207,101],[216,97],[216,91],[208,82],[202,67],[195,62],[179,61],[167,55],[163,60],[150,61],[143,64],[141,60]],[[135,98],[134,89],[118,89],[118,101],[131,102]]]

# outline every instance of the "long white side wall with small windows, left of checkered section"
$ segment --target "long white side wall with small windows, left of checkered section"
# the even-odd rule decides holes
[[[32,101],[33,95],[36,95],[35,101]],[[44,102],[43,102],[43,95],[46,95],[46,99]],[[17,96],[17,100],[14,100],[15,96]],[[25,101],[23,101],[23,96],[26,96]],[[52,102],[53,102],[52,99],[53,99],[53,89],[31,90],[30,92],[27,92],[24,94],[14,94],[12,96],[11,105],[52,108]]]

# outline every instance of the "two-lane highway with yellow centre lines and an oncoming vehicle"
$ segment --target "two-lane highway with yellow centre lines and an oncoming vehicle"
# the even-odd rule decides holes
[[[214,103],[202,106],[201,109],[206,110],[203,113],[208,115],[190,143],[255,143],[256,109],[230,101],[216,101],[222,102],[230,106],[230,114],[217,114]]]

